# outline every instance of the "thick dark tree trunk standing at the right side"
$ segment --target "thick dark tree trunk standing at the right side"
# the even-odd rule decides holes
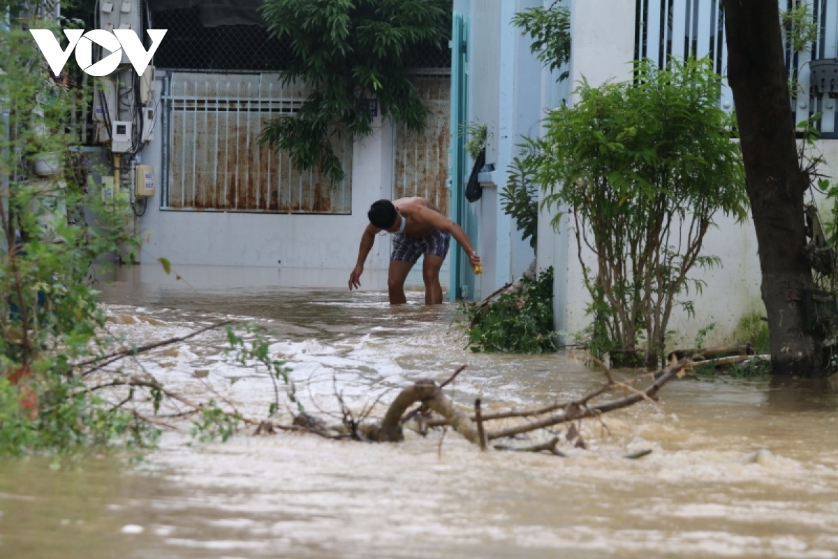
[[[804,191],[794,141],[776,2],[724,0],[728,80],[736,101],[747,196],[757,230],[774,374],[824,374],[822,334],[804,330],[801,291],[813,288]]]

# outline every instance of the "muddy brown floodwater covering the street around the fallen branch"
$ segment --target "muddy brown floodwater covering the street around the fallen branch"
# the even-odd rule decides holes
[[[473,355],[456,307],[390,308],[381,292],[137,280],[104,288],[116,334],[146,343],[222,317],[277,331],[310,411],[446,378],[469,405],[578,396],[602,376],[572,356]],[[263,417],[272,386],[209,333],[148,355],[171,389],[222,394]],[[195,370],[202,378],[196,378]],[[204,374],[205,373],[205,374]],[[385,400],[387,398],[385,397]],[[608,414],[569,458],[479,453],[448,432],[401,444],[246,432],[228,443],[168,433],[146,463],[90,457],[0,462],[2,557],[838,556],[835,380],[670,382],[658,406]],[[566,446],[566,445],[565,445]],[[639,460],[626,453],[652,449]]]

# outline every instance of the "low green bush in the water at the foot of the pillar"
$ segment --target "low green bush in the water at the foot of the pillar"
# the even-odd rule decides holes
[[[537,280],[521,278],[520,289],[504,292],[497,301],[461,305],[470,326],[472,351],[540,354],[556,351],[553,339],[553,268]]]

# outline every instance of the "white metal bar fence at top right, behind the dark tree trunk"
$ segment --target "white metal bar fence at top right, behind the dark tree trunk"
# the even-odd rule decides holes
[[[792,52],[786,44],[786,72],[796,76],[799,82],[791,107],[794,122],[805,121],[816,112],[823,112],[818,122],[820,131],[824,137],[835,137],[835,100],[810,96],[809,62],[813,60],[813,54],[815,59],[838,55],[838,0],[779,0],[778,8],[787,10],[800,3],[810,6],[819,33],[802,53]],[[637,0],[634,57],[655,60],[663,67],[670,56],[680,59],[709,56],[716,72],[722,75],[720,106],[732,111],[733,96],[727,85],[727,41],[724,32],[722,0]]]

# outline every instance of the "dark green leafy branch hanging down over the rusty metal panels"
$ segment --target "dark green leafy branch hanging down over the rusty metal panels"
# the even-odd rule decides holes
[[[261,135],[297,168],[342,180],[337,146],[372,133],[369,98],[378,100],[381,116],[424,130],[430,111],[403,70],[416,49],[447,46],[450,0],[267,0],[261,13],[271,34],[292,38],[296,61],[283,82],[313,89],[296,113],[268,123]]]

